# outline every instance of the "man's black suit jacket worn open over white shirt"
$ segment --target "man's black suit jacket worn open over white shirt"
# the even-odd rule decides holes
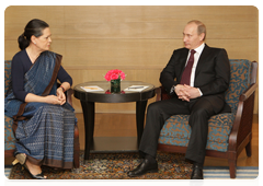
[[[187,56],[187,48],[174,50],[167,67],[162,70],[160,82],[167,92],[170,92],[173,85],[180,84]],[[225,103],[225,92],[229,86],[229,81],[230,65],[227,51],[205,45],[197,62],[194,86],[199,88],[203,93],[202,97],[211,103],[215,113],[231,111]]]

